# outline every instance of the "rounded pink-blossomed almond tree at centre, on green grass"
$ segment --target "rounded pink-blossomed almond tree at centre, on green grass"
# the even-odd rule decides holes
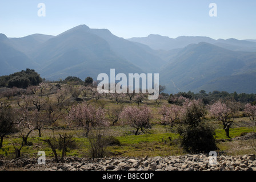
[[[135,135],[138,134],[139,129],[144,133],[143,128],[150,127],[150,119],[152,117],[151,110],[147,105],[141,107],[126,106],[120,114],[120,118],[124,124],[130,125],[136,129]]]

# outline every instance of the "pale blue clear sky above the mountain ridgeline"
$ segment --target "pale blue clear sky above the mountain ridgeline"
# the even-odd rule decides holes
[[[39,3],[45,16],[38,16]],[[217,6],[217,16],[209,15],[210,3]],[[122,38],[256,39],[255,8],[255,0],[1,0],[0,33],[9,38],[58,35],[86,24]]]

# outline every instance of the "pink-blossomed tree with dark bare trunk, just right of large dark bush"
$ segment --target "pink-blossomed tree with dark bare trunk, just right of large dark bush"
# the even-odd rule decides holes
[[[226,136],[229,136],[229,129],[234,121],[235,114],[237,113],[237,108],[235,103],[227,102],[228,105],[222,103],[221,101],[215,102],[210,106],[211,115],[221,121],[223,124],[223,130],[226,132]]]

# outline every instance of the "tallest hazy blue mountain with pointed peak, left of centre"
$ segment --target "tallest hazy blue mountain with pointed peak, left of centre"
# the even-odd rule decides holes
[[[47,40],[30,57],[41,65],[42,77],[58,80],[67,76],[97,79],[99,73],[142,72],[142,69],[118,56],[109,43],[91,33],[87,26],[78,26]]]

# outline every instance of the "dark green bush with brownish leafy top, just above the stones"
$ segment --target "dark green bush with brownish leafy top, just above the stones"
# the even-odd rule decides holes
[[[202,121],[206,114],[202,103],[191,101],[183,107],[183,125],[178,127],[181,146],[191,154],[216,150],[214,128]]]

